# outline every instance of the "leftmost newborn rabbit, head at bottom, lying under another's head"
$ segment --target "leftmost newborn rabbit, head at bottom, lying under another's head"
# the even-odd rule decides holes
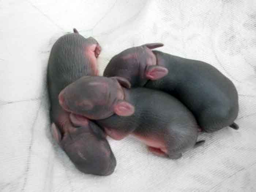
[[[72,116],[61,108],[58,99],[68,84],[85,75],[98,75],[100,51],[94,38],[84,38],[76,29],[60,37],[50,52],[48,92],[53,137],[81,172],[109,175],[114,171],[116,159],[105,133],[87,118],[83,118],[83,125],[72,123]]]

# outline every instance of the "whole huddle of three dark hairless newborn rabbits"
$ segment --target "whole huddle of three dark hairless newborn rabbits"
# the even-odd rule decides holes
[[[159,156],[177,159],[199,146],[199,132],[238,129],[238,94],[218,69],[157,50],[124,50],[98,76],[101,46],[74,33],[60,37],[48,63],[51,131],[83,173],[109,175],[116,159],[106,136],[133,135]]]

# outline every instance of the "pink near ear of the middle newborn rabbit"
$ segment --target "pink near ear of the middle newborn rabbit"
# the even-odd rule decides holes
[[[114,112],[119,116],[131,116],[134,113],[134,106],[126,101],[119,101],[114,106]]]

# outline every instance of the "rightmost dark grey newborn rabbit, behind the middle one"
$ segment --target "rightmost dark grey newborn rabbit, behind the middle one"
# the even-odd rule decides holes
[[[121,76],[129,79],[132,86],[144,86],[173,95],[187,106],[206,132],[227,126],[239,128],[234,123],[239,110],[236,87],[218,69],[202,61],[160,51],[140,51],[144,47],[129,48],[114,56],[103,75]],[[148,66],[152,65],[146,63],[154,63],[153,66],[161,68],[162,73],[158,70],[148,72]],[[167,75],[160,75],[166,71]]]

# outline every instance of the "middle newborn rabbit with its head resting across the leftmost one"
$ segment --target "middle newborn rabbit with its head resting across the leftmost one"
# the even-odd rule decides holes
[[[158,155],[176,159],[195,146],[198,125],[180,101],[162,91],[130,86],[119,77],[82,77],[61,91],[59,102],[74,113],[74,123],[95,119],[113,139],[131,134]]]

